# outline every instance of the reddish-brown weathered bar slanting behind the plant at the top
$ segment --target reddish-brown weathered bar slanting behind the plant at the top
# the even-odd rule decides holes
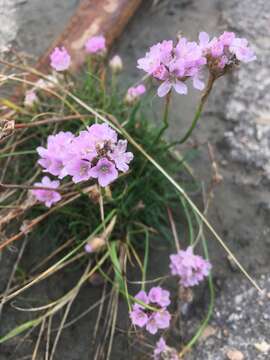
[[[85,61],[86,40],[102,34],[110,47],[141,2],[142,0],[82,0],[63,33],[38,60],[37,69],[46,73],[52,49],[65,46],[72,57],[72,70],[78,70]]]

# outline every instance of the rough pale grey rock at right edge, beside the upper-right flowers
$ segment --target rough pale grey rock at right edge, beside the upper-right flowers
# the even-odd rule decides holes
[[[234,160],[261,169],[270,180],[270,2],[230,0],[222,6],[225,21],[257,55],[240,67],[230,86],[225,117],[233,129],[225,137]]]

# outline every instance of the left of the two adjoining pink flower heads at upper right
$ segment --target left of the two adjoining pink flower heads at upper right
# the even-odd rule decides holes
[[[187,94],[185,81],[193,80],[193,86],[202,90],[200,71],[206,59],[200,46],[182,37],[174,46],[173,41],[162,41],[153,45],[144,58],[138,60],[138,68],[155,79],[162,81],[158,96],[168,94],[173,88],[179,94]]]

